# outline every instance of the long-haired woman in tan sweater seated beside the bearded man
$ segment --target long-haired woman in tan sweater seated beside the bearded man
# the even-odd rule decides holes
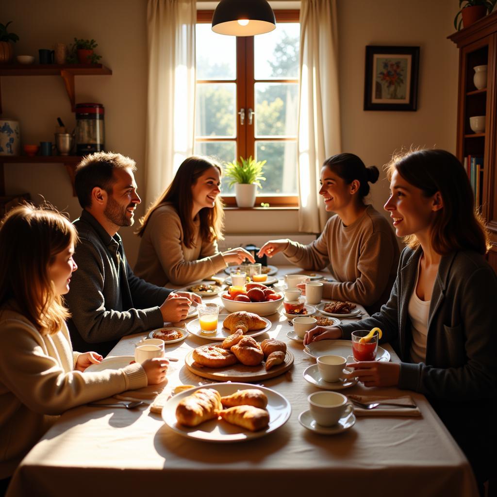
[[[172,183],[140,219],[137,276],[158,286],[186,285],[230,262],[254,262],[244,248],[218,250],[224,219],[221,173],[221,166],[207,157],[183,161]]]

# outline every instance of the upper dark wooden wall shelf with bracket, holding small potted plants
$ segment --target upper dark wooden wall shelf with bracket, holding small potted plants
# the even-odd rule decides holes
[[[102,64],[0,64],[0,76],[61,76],[66,85],[73,112],[76,110],[75,76],[108,76],[111,74],[112,71]]]

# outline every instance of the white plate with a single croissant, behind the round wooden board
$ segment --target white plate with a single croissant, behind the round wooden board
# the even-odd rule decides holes
[[[215,334],[204,333],[200,328],[200,320],[194,319],[186,325],[186,329],[193,335],[208,340],[223,341],[237,330],[242,330],[244,334],[258,336],[271,329],[271,322],[266,318],[261,318],[258,314],[247,311],[238,311],[231,314],[220,314],[218,317],[218,327]]]

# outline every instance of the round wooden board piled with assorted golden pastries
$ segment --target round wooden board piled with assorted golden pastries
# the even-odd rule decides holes
[[[202,345],[190,351],[185,365],[202,378],[219,381],[257,381],[288,371],[294,355],[286,343],[266,338],[261,343],[236,331],[223,342]]]

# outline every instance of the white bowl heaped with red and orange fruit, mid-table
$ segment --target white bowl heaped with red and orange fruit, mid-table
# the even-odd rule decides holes
[[[283,295],[261,283],[247,283],[245,287],[230,286],[228,292],[221,294],[221,300],[230,313],[247,311],[269,316],[278,310]]]

